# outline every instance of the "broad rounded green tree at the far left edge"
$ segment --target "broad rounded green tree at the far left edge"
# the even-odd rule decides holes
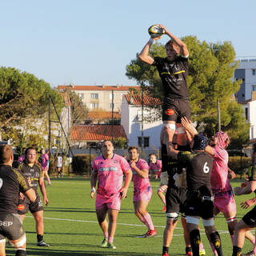
[[[11,67],[0,67],[0,132],[2,131],[2,138],[16,138],[22,141],[21,136],[24,130],[26,130],[28,142],[30,136],[39,136],[35,135],[33,130],[40,130],[40,127],[44,125],[38,120],[40,118],[46,120],[49,95],[53,98],[57,110],[60,110],[63,106],[62,97],[57,90],[50,87],[49,83],[36,78],[34,74],[21,72]],[[31,122],[28,122],[29,120]],[[28,127],[31,132],[28,131]],[[21,141],[14,143],[18,144]]]

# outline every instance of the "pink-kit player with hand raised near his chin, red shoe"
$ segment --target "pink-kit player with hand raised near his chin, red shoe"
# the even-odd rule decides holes
[[[138,219],[148,228],[144,237],[152,238],[157,234],[157,230],[154,228],[150,214],[146,211],[146,207],[152,196],[152,188],[149,179],[150,167],[145,160],[139,158],[138,147],[130,146],[128,152],[130,158],[129,164],[133,172],[134,212]]]

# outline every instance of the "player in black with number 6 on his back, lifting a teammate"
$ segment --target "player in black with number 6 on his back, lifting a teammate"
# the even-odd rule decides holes
[[[214,226],[214,203],[210,185],[210,175],[213,167],[213,158],[204,151],[207,138],[198,134],[197,130],[191,130],[191,122],[182,118],[182,124],[194,138],[194,152],[178,152],[171,150],[171,156],[178,159],[181,165],[186,166],[186,181],[188,193],[186,197],[186,222],[190,231],[190,242],[194,256],[199,256],[199,243],[201,242],[198,229],[199,219],[206,232],[210,234],[210,241],[214,245],[218,255],[222,254],[222,244],[218,231]],[[168,130],[167,130],[168,132]]]

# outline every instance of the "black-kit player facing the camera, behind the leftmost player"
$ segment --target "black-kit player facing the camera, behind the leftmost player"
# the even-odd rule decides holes
[[[42,166],[37,162],[37,150],[34,147],[29,147],[25,151],[25,160],[20,163],[18,170],[25,175],[29,182],[31,182],[31,187],[34,189],[37,195],[36,201],[31,202],[26,195],[20,194],[20,199],[18,201],[18,214],[21,214],[22,220],[24,220],[26,213],[30,210],[35,220],[35,227],[37,231],[37,246],[49,246],[43,241],[44,224],[43,224],[43,205],[42,200],[38,194],[38,185],[40,187],[43,202],[47,206],[49,200],[46,194],[45,182],[43,180]]]

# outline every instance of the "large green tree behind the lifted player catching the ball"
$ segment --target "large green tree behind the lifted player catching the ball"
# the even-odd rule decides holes
[[[230,42],[200,42],[194,36],[182,38],[190,51],[190,70],[187,85],[190,91],[192,121],[197,122],[198,130],[208,136],[218,130],[217,102],[220,102],[221,126],[231,135],[232,142],[246,142],[249,124],[243,116],[242,106],[234,100],[234,93],[241,81],[232,82],[234,70],[234,47]],[[166,51],[158,42],[151,46],[152,56],[166,57]],[[163,98],[162,82],[154,66],[146,65],[137,58],[126,66],[128,78],[150,88],[150,92]],[[247,135],[246,135],[247,134]]]

